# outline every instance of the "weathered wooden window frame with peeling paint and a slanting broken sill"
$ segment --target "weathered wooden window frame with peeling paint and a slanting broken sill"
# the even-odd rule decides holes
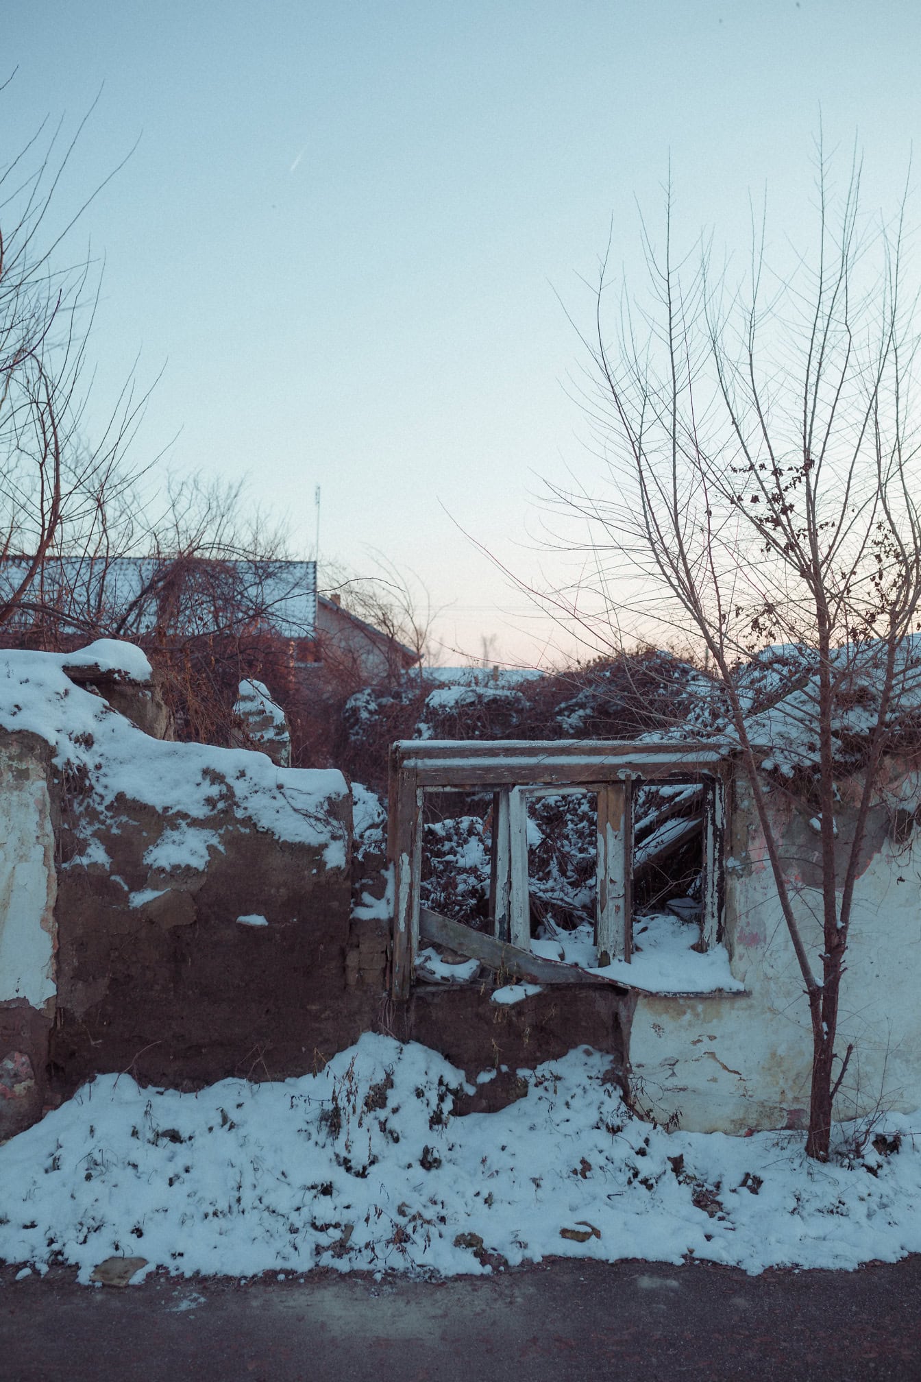
[[[573,965],[530,952],[527,803],[591,792],[598,803],[595,940],[599,965],[632,951],[632,833],[637,788],[701,782],[704,788],[701,948],[722,938],[728,759],[712,744],[613,739],[403,739],[391,749],[388,862],[394,871],[392,992],[409,996],[420,931],[486,963],[497,954],[510,972],[543,984],[609,983]],[[425,792],[493,792],[489,915],[492,937],[421,907]],[[479,954],[478,954],[479,952]],[[518,962],[518,963],[515,963]]]

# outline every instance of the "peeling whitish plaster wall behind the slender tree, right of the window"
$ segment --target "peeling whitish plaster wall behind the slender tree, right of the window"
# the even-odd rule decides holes
[[[838,851],[852,837],[857,784],[842,786]],[[921,800],[918,775],[889,761],[884,802],[867,826],[841,987],[837,1050],[855,1043],[838,1117],[867,1115],[880,1100],[921,1107],[921,842],[895,837],[893,820]],[[641,995],[631,1031],[639,1101],[659,1119],[697,1132],[801,1128],[812,1067],[809,1010],[744,778],[733,785],[726,846],[726,934],[744,995]],[[804,938],[820,976],[819,836],[812,810],[775,789],[775,822]],[[903,815],[904,820],[904,815]]]

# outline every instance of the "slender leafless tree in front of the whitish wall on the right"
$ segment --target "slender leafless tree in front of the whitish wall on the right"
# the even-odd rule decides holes
[[[816,192],[812,249],[775,276],[762,224],[730,287],[710,243],[675,256],[668,188],[664,243],[642,232],[650,292],[621,296],[610,334],[605,258],[583,398],[609,486],[554,493],[588,522],[592,572],[556,608],[614,647],[653,627],[690,634],[719,684],[809,1005],[806,1150],[824,1159],[851,1056],[835,1039],[867,818],[917,708],[921,477],[904,198],[891,223],[864,220],[859,164],[834,196],[822,145]],[[753,655],[757,674],[740,672]],[[857,789],[842,850],[844,771]],[[779,785],[815,804],[819,945],[772,815]]]

